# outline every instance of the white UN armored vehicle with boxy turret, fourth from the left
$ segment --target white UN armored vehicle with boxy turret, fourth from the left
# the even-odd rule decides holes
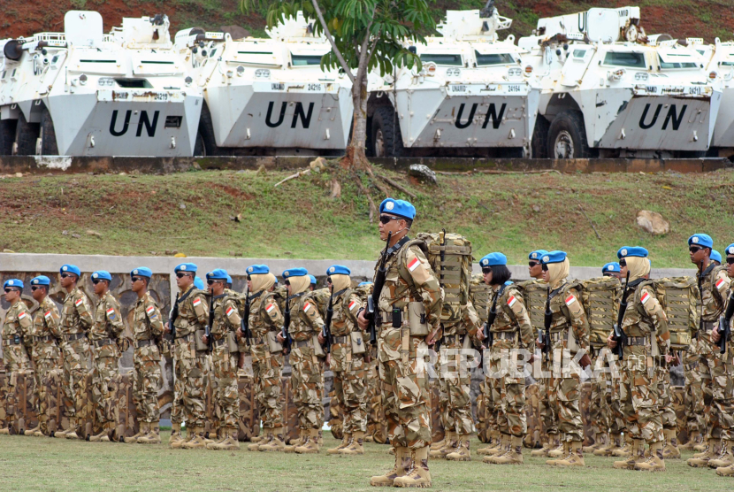
[[[638,7],[539,19],[518,44],[542,84],[535,138],[548,157],[706,154],[721,83],[692,49],[649,42]]]

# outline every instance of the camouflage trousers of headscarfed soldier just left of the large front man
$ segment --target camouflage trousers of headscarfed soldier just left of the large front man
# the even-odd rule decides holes
[[[344,432],[367,432],[367,387],[364,358],[354,356],[348,371],[334,371],[334,396],[344,416]]]

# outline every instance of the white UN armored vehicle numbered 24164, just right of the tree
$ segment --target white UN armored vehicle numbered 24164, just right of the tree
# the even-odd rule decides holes
[[[372,73],[367,105],[371,155],[529,157],[539,87],[526,53],[498,31],[512,20],[492,2],[482,11],[447,11],[442,36],[409,46],[423,68]]]

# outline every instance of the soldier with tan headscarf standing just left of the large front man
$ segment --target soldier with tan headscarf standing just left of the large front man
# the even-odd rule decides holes
[[[342,265],[332,265],[326,270],[331,290],[329,306],[333,312],[329,368],[333,372],[334,394],[339,398],[344,429],[341,444],[327,452],[361,455],[364,454],[364,433],[367,430],[366,350],[363,332],[356,324],[356,314],[363,308],[363,302],[351,288],[350,274],[349,269]],[[319,334],[319,342],[325,342],[323,334]],[[357,351],[353,350],[355,347]]]

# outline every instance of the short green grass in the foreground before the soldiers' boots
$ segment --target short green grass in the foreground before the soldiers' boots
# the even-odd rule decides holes
[[[164,442],[168,433],[164,432]],[[337,443],[325,433],[326,447]],[[143,446],[0,435],[2,490],[375,490],[370,476],[393,465],[388,447],[366,444],[363,457],[259,453],[246,450],[169,450]],[[471,442],[477,450],[479,442]],[[585,457],[583,469],[563,470],[529,457],[525,465],[431,460],[433,490],[730,491],[734,480],[713,470],[668,460],[665,473],[611,468],[613,458]],[[690,457],[692,453],[684,455]]]

